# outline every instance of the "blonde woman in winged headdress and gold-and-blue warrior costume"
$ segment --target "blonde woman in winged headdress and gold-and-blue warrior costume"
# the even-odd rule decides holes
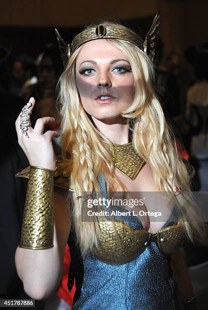
[[[153,92],[152,63],[142,39],[120,24],[105,22],[78,34],[71,52],[68,45],[68,55],[59,82],[64,160],[55,172],[60,188],[55,191],[54,244],[51,197],[56,160],[51,139],[59,134],[43,133],[53,118],[37,120],[34,129],[29,126],[26,119],[34,98],[16,122],[19,143],[30,163],[30,171],[20,173],[27,174],[29,182],[16,252],[24,288],[35,299],[55,290],[68,241],[73,266],[69,286],[71,276],[76,277],[74,309],[191,307],[192,287],[178,248],[185,234],[193,239],[192,230],[201,234],[201,228],[187,220],[177,223],[173,216],[178,213],[188,220],[195,216],[192,207],[188,214],[181,212],[186,200],[182,206],[175,200],[174,210],[166,208],[162,222],[148,216],[133,221],[130,213],[122,218],[107,216],[107,221],[96,214],[92,220],[87,217],[85,193],[91,200],[100,191],[105,196],[107,188],[108,192],[175,191],[179,198],[178,188],[189,190],[187,169]],[[67,176],[70,184],[64,191]],[[145,205],[146,211],[155,208],[152,203]],[[107,207],[101,204],[93,210],[107,211]],[[166,243],[169,232],[174,244]]]

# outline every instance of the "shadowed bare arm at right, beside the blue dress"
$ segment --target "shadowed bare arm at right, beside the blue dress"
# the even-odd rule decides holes
[[[176,251],[171,255],[171,269],[173,270],[173,278],[178,284],[178,292],[180,296],[188,301],[193,297],[193,288],[191,279],[184,259],[180,251]]]

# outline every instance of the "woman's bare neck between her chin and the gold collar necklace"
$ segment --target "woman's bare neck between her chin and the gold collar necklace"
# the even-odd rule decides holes
[[[114,144],[129,142],[129,126],[124,118],[97,120],[92,117],[96,128]]]

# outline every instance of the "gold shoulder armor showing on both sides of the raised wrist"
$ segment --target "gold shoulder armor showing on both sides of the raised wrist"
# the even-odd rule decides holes
[[[54,186],[74,191],[70,186],[70,173],[67,161],[63,161],[61,156],[57,156],[56,163],[57,165],[54,171]],[[16,173],[15,176],[29,179],[30,166]]]

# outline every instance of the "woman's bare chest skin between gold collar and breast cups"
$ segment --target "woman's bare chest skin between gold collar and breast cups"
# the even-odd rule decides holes
[[[168,221],[173,211],[173,204],[161,195],[154,184],[153,174],[148,164],[144,164],[134,180],[114,169],[116,177],[126,187],[126,197],[133,206],[125,206],[128,211],[134,210],[134,215],[141,221],[144,230],[151,234],[157,233]],[[117,186],[115,191],[122,191]],[[141,203],[134,204],[134,202]],[[158,214],[160,214],[158,217]]]

